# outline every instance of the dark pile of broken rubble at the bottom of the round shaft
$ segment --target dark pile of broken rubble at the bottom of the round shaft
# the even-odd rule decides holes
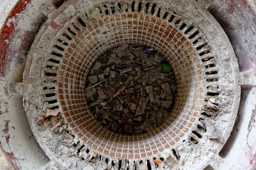
[[[161,125],[177,94],[173,71],[163,73],[161,64],[168,62],[141,45],[120,45],[102,54],[84,89],[93,116],[120,134],[144,134]]]

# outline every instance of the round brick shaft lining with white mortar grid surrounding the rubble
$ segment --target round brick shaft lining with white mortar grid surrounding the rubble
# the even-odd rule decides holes
[[[79,27],[80,28],[80,27]],[[154,48],[170,62],[177,97],[170,117],[154,131],[125,136],[93,117],[84,87],[86,75],[102,53],[135,43]],[[204,70],[191,42],[165,20],[147,14],[111,15],[81,31],[67,49],[58,73],[58,96],[68,125],[93,150],[117,159],[144,159],[172,148],[195,123],[204,98]]]

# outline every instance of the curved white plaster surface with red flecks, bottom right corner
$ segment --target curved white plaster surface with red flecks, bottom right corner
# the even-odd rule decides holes
[[[228,152],[227,156],[224,158],[223,164],[220,165],[222,167],[221,169],[253,169],[253,164],[256,164],[256,160],[254,160],[253,164],[250,165],[250,150],[247,145],[252,146],[252,152],[256,153],[256,141],[255,141],[255,127],[256,123],[254,122],[254,128],[250,132],[250,136],[248,139],[248,124],[251,120],[252,113],[255,109],[256,105],[256,94],[255,94],[256,87],[252,90],[250,90],[250,93],[248,94],[248,97],[246,97],[244,101],[243,108],[240,108],[239,114],[241,115],[241,126],[239,127],[237,131],[237,136],[234,141],[234,144],[230,148],[230,151]],[[253,93],[254,91],[254,93]],[[253,141],[254,140],[254,141]],[[229,166],[228,166],[229,165]],[[231,167],[230,167],[231,166]]]

